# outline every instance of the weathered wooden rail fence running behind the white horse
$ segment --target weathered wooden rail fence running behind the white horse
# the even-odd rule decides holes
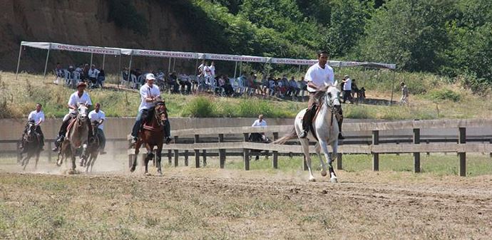
[[[344,132],[352,132],[351,137],[341,141],[338,148],[337,169],[342,169],[343,154],[370,154],[372,155],[372,169],[379,170],[380,154],[413,153],[414,172],[421,171],[420,156],[426,152],[456,152],[459,156],[459,174],[466,176],[466,153],[488,152],[492,157],[492,135],[467,136],[467,127],[491,127],[492,120],[410,120],[399,122],[364,122],[344,124]],[[292,145],[272,145],[248,142],[251,132],[265,132],[273,135],[276,140],[279,133],[289,132],[292,126],[270,127],[217,127],[188,130],[174,130],[175,142],[165,146],[169,162],[174,157],[174,165],[178,166],[179,157],[195,156],[195,167],[200,167],[200,157],[203,165],[207,164],[207,157],[219,157],[220,167],[223,168],[227,156],[237,156],[242,152],[244,169],[250,169],[250,156],[259,155],[252,150],[267,150],[272,152],[272,167],[277,168],[279,155],[301,155],[302,147]],[[421,135],[426,129],[457,129],[457,135]],[[380,132],[394,130],[411,130],[412,135],[380,135]],[[371,135],[364,135],[371,132]],[[360,133],[360,134],[358,134]],[[232,137],[231,137],[232,135]],[[242,136],[242,137],[238,137]],[[368,140],[369,139],[369,140]],[[129,140],[129,138],[128,138]],[[425,143],[425,144],[422,144]],[[314,142],[310,151],[314,152]],[[164,150],[164,151],[165,151]],[[192,150],[193,152],[189,152]],[[213,150],[214,152],[207,152]],[[201,151],[201,152],[200,152]],[[217,154],[218,152],[218,154]],[[128,160],[133,157],[134,150],[128,150]],[[141,152],[146,154],[145,150]],[[304,169],[306,168],[304,162]]]

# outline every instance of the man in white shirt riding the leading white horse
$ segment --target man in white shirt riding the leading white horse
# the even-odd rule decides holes
[[[304,80],[307,82],[307,91],[309,92],[309,101],[307,103],[307,110],[302,118],[302,129],[304,130],[299,137],[307,137],[307,132],[309,132],[309,127],[312,125],[312,118],[316,113],[317,103],[319,98],[322,97],[324,92],[322,89],[325,84],[334,84],[334,71],[333,68],[328,64],[328,52],[320,51],[318,53],[318,63],[307,69]],[[342,135],[342,122],[343,113],[341,106],[335,106],[335,116],[337,117],[338,127],[340,133],[338,135],[339,139],[343,139]]]

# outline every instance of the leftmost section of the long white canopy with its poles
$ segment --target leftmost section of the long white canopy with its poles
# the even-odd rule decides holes
[[[105,47],[97,47],[97,46],[77,46],[77,45],[70,45],[70,44],[64,44],[64,43],[46,43],[46,42],[22,41],[21,47],[19,48],[19,58],[17,60],[16,79],[17,79],[17,74],[19,74],[19,66],[21,63],[22,46],[29,46],[31,48],[40,48],[40,49],[48,50],[48,53],[46,53],[46,63],[44,64],[43,76],[46,76],[46,69],[48,68],[49,53],[52,49],[53,50],[60,50],[60,51],[74,51],[74,52],[81,52],[81,53],[91,53],[91,65],[92,65],[93,53],[103,54],[104,56],[106,56],[107,54],[109,54],[109,55],[121,55],[121,49],[120,48],[105,48]],[[104,60],[105,60],[104,56],[103,56],[103,66],[104,66]]]

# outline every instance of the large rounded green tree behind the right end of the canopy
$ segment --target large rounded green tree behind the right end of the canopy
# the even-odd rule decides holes
[[[394,0],[379,8],[359,46],[366,60],[396,63],[409,71],[437,71],[449,46],[446,23],[452,0]]]

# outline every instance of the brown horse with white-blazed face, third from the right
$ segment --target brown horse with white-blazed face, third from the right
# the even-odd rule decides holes
[[[69,174],[75,173],[75,157],[76,151],[80,147],[87,147],[87,138],[89,131],[88,110],[85,104],[78,104],[77,117],[71,120],[68,125],[67,137],[61,143],[61,150],[58,152],[57,166],[61,166],[63,159],[70,156],[72,160],[72,168]]]

